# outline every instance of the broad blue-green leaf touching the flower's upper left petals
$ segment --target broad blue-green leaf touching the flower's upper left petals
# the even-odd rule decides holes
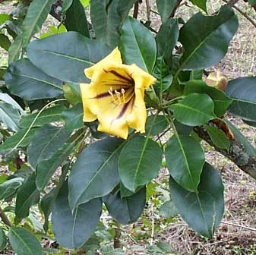
[[[87,81],[84,68],[108,55],[109,48],[103,42],[88,39],[80,33],[67,32],[30,42],[27,54],[33,65],[49,76],[81,83]]]

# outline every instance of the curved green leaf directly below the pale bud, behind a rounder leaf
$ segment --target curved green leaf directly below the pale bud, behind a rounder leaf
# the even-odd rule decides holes
[[[205,93],[213,99],[214,102],[214,113],[216,116],[222,116],[229,105],[232,102],[228,96],[221,90],[217,90],[215,87],[207,86],[206,83],[202,80],[189,80],[188,83],[185,84],[184,95],[188,95],[190,93]]]

